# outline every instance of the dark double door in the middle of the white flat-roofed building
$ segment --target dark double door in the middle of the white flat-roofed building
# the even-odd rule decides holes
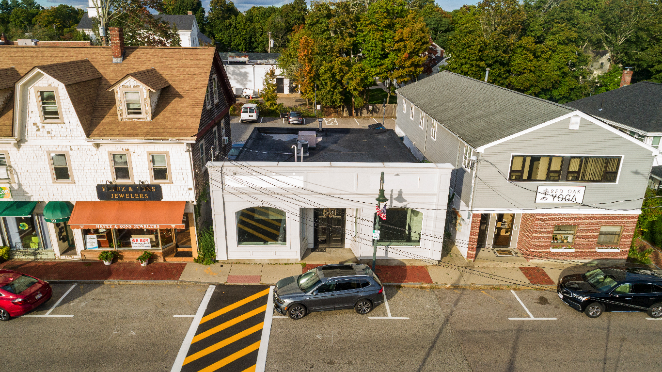
[[[314,209],[313,251],[324,252],[327,248],[345,247],[345,209]]]

